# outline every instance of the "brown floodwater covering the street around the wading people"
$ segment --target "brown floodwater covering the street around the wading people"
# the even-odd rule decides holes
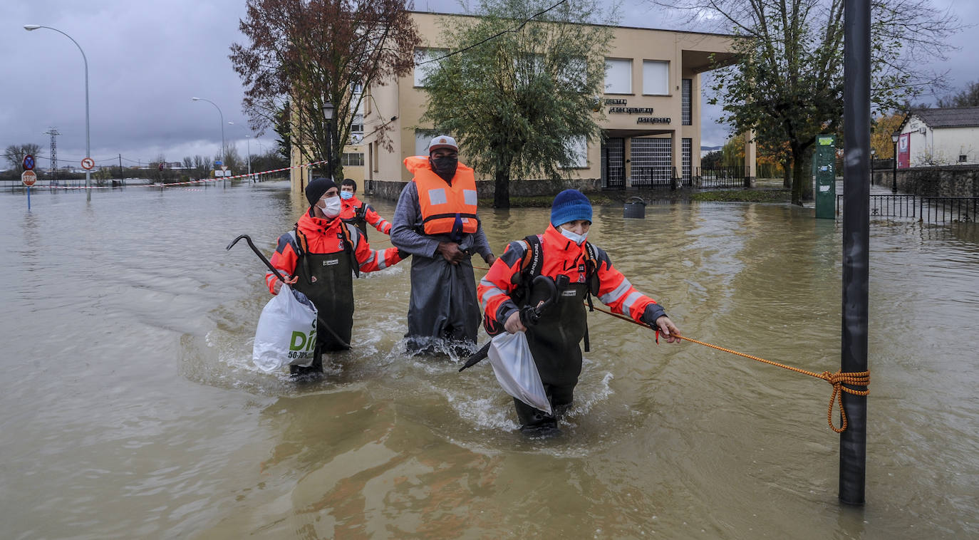
[[[252,365],[265,267],[225,246],[271,253],[305,208],[286,183],[31,206],[0,193],[5,538],[979,537],[975,224],[871,220],[866,506],[850,508],[826,382],[596,311],[563,434],[528,439],[488,362],[403,354],[407,261],[354,282],[354,348],[325,377]],[[622,213],[596,207],[588,240],[684,335],[839,369],[839,221]],[[500,254],[549,210],[481,215]]]

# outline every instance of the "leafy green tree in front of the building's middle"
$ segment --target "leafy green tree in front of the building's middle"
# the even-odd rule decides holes
[[[566,177],[584,141],[601,137],[594,109],[611,28],[581,23],[596,22],[593,0],[552,4],[481,0],[479,17],[446,22],[445,43],[459,52],[425,80],[422,120],[492,176],[498,208],[510,206],[510,178]]]

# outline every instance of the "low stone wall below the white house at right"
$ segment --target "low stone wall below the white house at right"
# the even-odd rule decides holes
[[[893,170],[873,171],[873,183],[890,187]],[[898,192],[922,197],[979,197],[979,165],[898,169]]]

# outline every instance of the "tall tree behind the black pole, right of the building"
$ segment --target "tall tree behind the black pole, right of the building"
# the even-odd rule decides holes
[[[680,0],[691,19],[718,21],[738,36],[735,65],[717,70],[710,103],[735,133],[754,129],[769,148],[787,143],[792,203],[812,198],[808,160],[819,133],[842,131],[844,0]],[[929,72],[945,58],[956,17],[930,0],[872,0],[871,100],[893,111],[942,77]]]

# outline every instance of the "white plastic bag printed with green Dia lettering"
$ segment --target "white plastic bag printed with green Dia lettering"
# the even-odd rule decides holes
[[[309,366],[316,346],[316,306],[283,284],[258,317],[252,361],[271,373],[285,366]]]

